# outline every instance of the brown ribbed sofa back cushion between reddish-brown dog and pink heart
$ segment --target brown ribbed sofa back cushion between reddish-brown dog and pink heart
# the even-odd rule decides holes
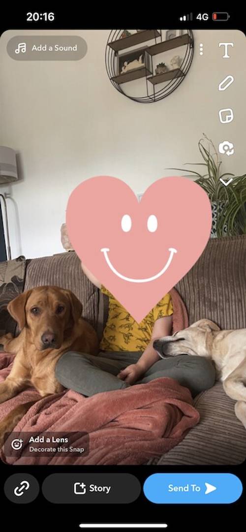
[[[98,289],[84,275],[80,262],[73,251],[32,259],[27,266],[24,290],[44,285],[71,290],[83,305],[82,316],[96,329]]]

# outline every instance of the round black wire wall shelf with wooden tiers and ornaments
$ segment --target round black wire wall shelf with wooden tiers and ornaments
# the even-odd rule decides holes
[[[136,30],[130,34],[125,31],[112,30],[107,40],[105,63],[113,86],[140,103],[158,102],[169,96],[182,83],[191,66],[193,32],[155,29]],[[168,31],[169,38],[165,39]],[[175,64],[173,57],[171,68],[163,62],[157,64],[158,56],[163,59],[165,52],[170,54],[179,47],[182,47],[182,58],[176,56],[179,61],[176,59]]]

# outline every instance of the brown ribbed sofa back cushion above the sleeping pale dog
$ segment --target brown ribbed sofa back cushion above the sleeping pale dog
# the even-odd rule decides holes
[[[177,283],[189,322],[215,321],[221,329],[246,327],[246,235],[210,239]]]

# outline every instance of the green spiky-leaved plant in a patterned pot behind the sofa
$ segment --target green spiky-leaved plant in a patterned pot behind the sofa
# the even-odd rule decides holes
[[[195,182],[208,194],[211,202],[213,223],[211,237],[223,237],[246,234],[246,174],[234,176],[233,173],[222,173],[222,161],[211,139],[203,133],[198,143],[202,163],[185,163],[204,167],[205,173],[186,170],[189,177],[196,177]],[[181,168],[169,170],[184,171]],[[188,177],[188,176],[185,176]],[[220,179],[230,184],[225,186]],[[227,179],[228,178],[228,179]]]

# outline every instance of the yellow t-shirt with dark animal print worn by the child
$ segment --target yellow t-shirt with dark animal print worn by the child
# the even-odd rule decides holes
[[[101,292],[108,296],[108,319],[100,342],[103,351],[145,351],[150,343],[154,323],[159,318],[173,314],[170,294],[166,294],[140,322],[104,287]]]

